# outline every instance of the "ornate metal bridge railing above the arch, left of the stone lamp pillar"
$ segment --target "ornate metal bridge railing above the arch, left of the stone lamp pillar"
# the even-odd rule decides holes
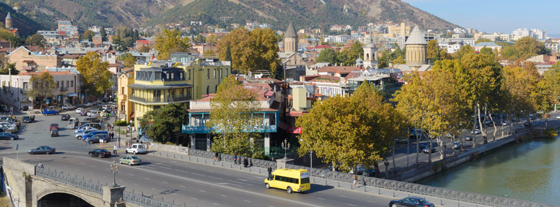
[[[87,181],[82,178],[73,177],[71,175],[63,174],[61,172],[51,171],[44,168],[37,168],[35,166],[35,175],[42,176],[47,179],[52,179],[54,181],[61,182],[63,184],[73,186],[76,188],[91,191],[93,193],[103,193],[103,188],[101,184],[96,184],[92,181]]]

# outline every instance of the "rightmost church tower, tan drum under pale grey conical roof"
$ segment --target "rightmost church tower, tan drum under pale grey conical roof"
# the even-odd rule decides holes
[[[426,55],[428,42],[417,26],[410,32],[410,36],[408,36],[404,45],[406,47],[406,64],[410,68],[419,68],[428,63]]]

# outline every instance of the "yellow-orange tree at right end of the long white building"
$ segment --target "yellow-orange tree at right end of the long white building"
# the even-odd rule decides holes
[[[76,69],[80,72],[90,88],[90,92],[100,95],[105,94],[113,85],[113,75],[107,70],[109,62],[102,62],[101,56],[96,52],[87,52],[76,62]]]

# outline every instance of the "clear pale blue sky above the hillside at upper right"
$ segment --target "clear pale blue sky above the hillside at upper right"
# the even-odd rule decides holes
[[[517,28],[546,30],[560,37],[559,0],[401,0],[479,32],[511,34]]]

